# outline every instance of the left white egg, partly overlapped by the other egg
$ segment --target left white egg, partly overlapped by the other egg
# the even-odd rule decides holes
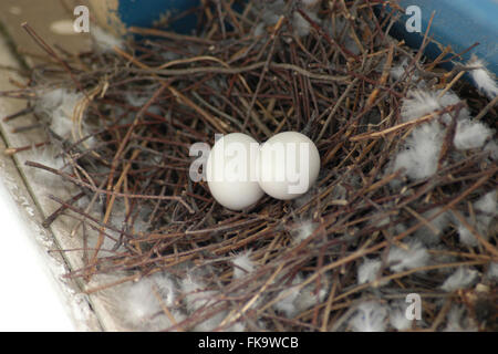
[[[258,184],[258,142],[241,133],[227,134],[212,146],[206,178],[212,197],[224,207],[241,210],[264,195]]]

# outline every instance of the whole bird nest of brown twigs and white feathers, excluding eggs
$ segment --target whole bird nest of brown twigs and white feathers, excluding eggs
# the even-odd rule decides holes
[[[77,188],[44,222],[77,221],[66,277],[111,277],[85,292],[138,330],[497,330],[496,100],[459,80],[484,69],[390,37],[396,1],[231,2],[76,54],[24,25],[50,62],[4,95],[56,156],[27,164]],[[284,131],[320,152],[304,196],[231,211],[189,178],[194,144]]]

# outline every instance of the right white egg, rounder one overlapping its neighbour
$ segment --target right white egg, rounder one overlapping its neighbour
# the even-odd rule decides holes
[[[268,139],[258,156],[259,185],[271,197],[282,200],[305,194],[320,171],[320,154],[314,143],[297,132],[284,132]]]

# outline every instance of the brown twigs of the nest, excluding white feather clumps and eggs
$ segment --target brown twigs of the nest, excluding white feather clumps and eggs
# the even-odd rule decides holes
[[[71,135],[46,129],[65,166],[31,163],[80,189],[71,200],[58,199],[62,208],[45,226],[61,215],[77,216],[96,235],[81,251],[86,266],[69,277],[123,277],[110,287],[163,271],[176,281],[201,277],[197,291],[207,291],[209,302],[187,309],[185,320],[164,330],[193,329],[220,313],[212,329],[347,330],[360,302],[391,303],[413,292],[426,309],[414,330],[443,329],[448,303],[464,304],[481,330],[496,325],[496,312],[494,320],[489,312],[476,315],[469,299],[480,294],[439,289],[448,270],[471,266],[479,283],[490,287],[486,301],[496,299],[496,284],[484,275],[496,262],[496,229],[469,248],[452,225],[430,225],[445,212],[467,212],[496,188],[496,164],[478,149],[455,157],[449,140],[429,178],[412,180],[388,168],[411,131],[437,118],[400,118],[402,101],[419,81],[465,95],[473,114],[486,110],[481,121],[491,127],[495,107],[467,83],[452,81],[459,72],[438,69],[442,59],[429,62],[423,48],[412,51],[386,34],[400,15],[395,1],[376,10],[373,1],[323,1],[317,19],[290,1],[274,24],[261,22],[258,32],[261,3],[249,2],[242,12],[229,3],[204,1],[196,35],[132,29],[145,37],[112,51],[53,52],[54,63],[33,69],[20,94],[46,87],[82,94]],[[297,15],[307,35],[297,31],[303,25]],[[393,79],[403,60],[404,74]],[[212,145],[215,134],[231,132],[263,142],[283,131],[302,132],[320,150],[321,174],[305,196],[266,197],[236,212],[219,206],[206,183],[189,179],[193,144]],[[424,228],[440,233],[442,244],[428,248],[430,264],[391,271],[388,250],[406,247],[404,240]],[[245,251],[255,269],[234,279],[234,258]],[[383,260],[375,280],[359,284],[359,266],[374,256]],[[276,306],[304,292],[311,303],[291,300],[295,311],[289,312]],[[188,296],[181,293],[174,308],[185,310]]]

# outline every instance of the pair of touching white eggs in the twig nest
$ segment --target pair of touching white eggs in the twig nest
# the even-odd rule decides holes
[[[319,171],[317,146],[297,132],[279,133],[262,145],[246,134],[225,135],[212,146],[206,164],[212,197],[231,210],[256,204],[264,192],[281,200],[302,196]]]

